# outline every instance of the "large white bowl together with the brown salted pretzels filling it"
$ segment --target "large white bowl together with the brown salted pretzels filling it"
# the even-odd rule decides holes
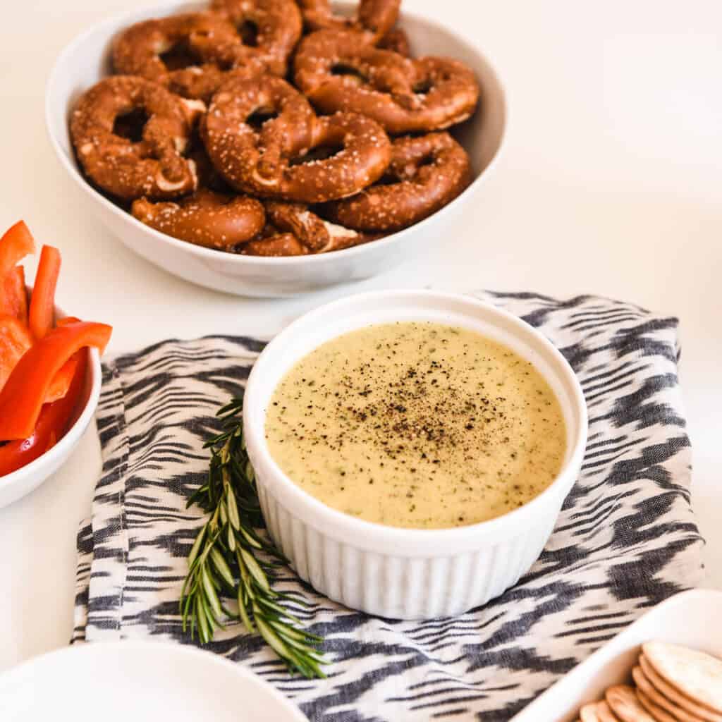
[[[274,297],[371,277],[449,243],[505,129],[482,53],[399,5],[109,19],[56,62],[51,143],[108,229],[188,281]]]

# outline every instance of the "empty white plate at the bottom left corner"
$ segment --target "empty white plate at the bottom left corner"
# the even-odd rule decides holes
[[[308,722],[225,658],[162,642],[81,644],[0,676],[3,722]]]

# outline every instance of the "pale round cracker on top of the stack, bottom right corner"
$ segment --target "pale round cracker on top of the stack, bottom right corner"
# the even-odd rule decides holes
[[[722,659],[665,642],[648,642],[642,649],[654,671],[672,687],[722,714]]]

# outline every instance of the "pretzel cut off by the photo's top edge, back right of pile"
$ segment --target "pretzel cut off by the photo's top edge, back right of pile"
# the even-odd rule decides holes
[[[401,0],[360,0],[352,18],[335,15],[330,0],[298,0],[298,4],[310,30],[358,30],[366,43],[375,44],[399,17]]]

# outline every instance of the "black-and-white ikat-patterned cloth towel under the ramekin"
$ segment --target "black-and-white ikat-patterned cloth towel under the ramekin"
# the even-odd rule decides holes
[[[282,588],[309,604],[295,613],[326,638],[329,678],[290,677],[239,624],[209,648],[268,679],[313,722],[508,720],[645,609],[702,580],[677,321],[599,297],[477,295],[538,327],[578,374],[590,417],[580,479],[531,571],[459,617],[370,617],[285,570]],[[74,641],[191,643],[178,595],[201,512],[186,500],[206,474],[214,414],[263,345],[167,341],[105,367],[103,475],[78,536]]]

